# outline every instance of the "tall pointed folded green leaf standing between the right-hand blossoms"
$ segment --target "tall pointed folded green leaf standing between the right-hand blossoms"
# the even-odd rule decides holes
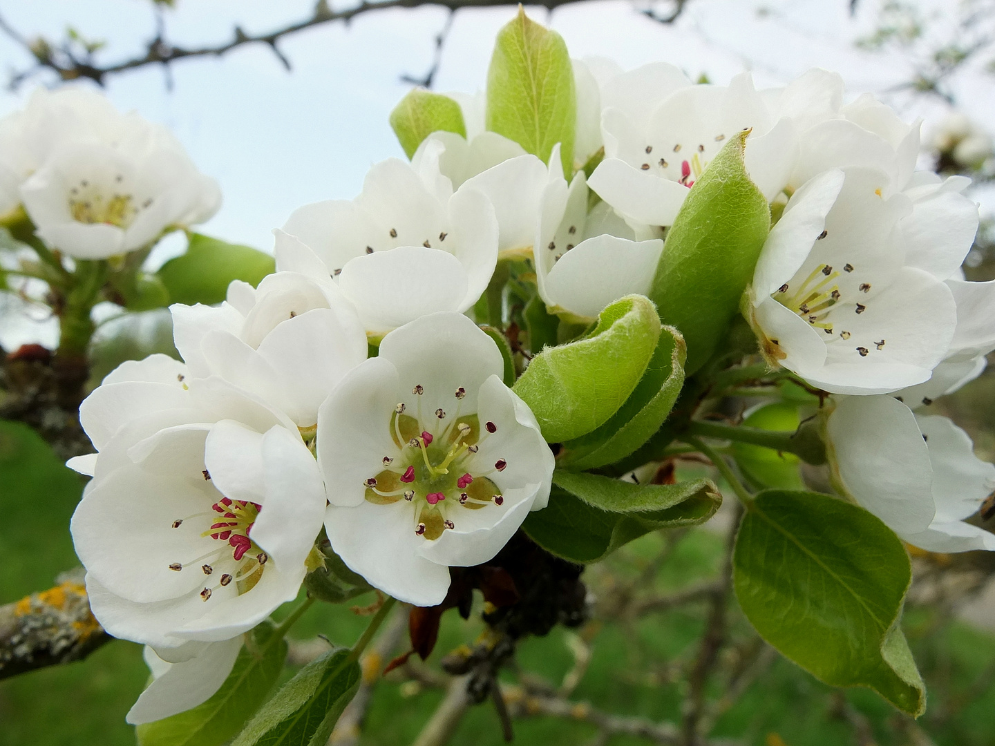
[[[688,375],[724,336],[770,227],[767,200],[743,166],[747,134],[729,138],[695,182],[653,280],[661,319],[688,342]]]

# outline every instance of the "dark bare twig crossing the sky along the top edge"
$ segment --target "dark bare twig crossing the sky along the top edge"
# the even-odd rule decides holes
[[[586,0],[538,0],[538,2],[529,4],[538,5],[551,11],[563,5],[572,5],[581,2],[586,2]],[[688,0],[677,0],[673,11],[667,16],[658,17],[650,12],[647,12],[647,15],[661,23],[673,23],[683,12],[687,2]],[[96,62],[94,50],[86,50],[81,53],[77,48],[78,45],[75,46],[71,41],[60,45],[53,45],[40,37],[29,39],[13,28],[2,17],[0,17],[0,32],[3,32],[18,46],[24,48],[35,61],[32,67],[13,74],[10,81],[11,89],[18,88],[29,78],[45,71],[55,73],[63,81],[85,78],[102,86],[108,76],[129,70],[137,70],[138,68],[144,68],[149,65],[161,65],[165,69],[168,69],[168,66],[179,60],[220,57],[234,49],[250,44],[265,44],[273,51],[281,64],[290,70],[291,61],[281,52],[278,45],[284,39],[297,34],[299,31],[330,23],[341,22],[348,24],[353,18],[358,16],[384,10],[434,6],[447,8],[451,12],[451,16],[449,21],[447,21],[446,28],[440,35],[442,41],[437,43],[436,63],[425,79],[417,81],[419,84],[427,82],[425,85],[431,85],[432,77],[438,69],[438,58],[441,54],[442,44],[445,41],[445,35],[449,31],[449,25],[452,22],[452,13],[461,8],[488,8],[516,4],[515,0],[380,0],[379,2],[362,0],[362,2],[350,8],[332,10],[328,6],[327,0],[318,0],[313,12],[306,18],[262,34],[247,34],[241,27],[236,26],[232,32],[232,38],[228,41],[203,47],[172,45],[166,41],[164,30],[160,26],[155,37],[145,45],[145,49],[140,54],[105,65],[100,65]]]

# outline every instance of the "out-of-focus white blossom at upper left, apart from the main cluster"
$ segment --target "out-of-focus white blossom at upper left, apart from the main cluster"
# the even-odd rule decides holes
[[[141,249],[220,205],[215,181],[167,130],[118,113],[99,93],[36,93],[5,124],[0,212],[23,202],[38,236],[71,257]]]

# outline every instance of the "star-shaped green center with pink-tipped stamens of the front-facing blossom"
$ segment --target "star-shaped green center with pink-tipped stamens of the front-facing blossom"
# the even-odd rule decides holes
[[[412,390],[417,401],[414,414],[408,413],[404,402],[394,408],[390,429],[396,451],[383,457],[383,469],[364,484],[366,499],[374,504],[412,503],[415,533],[434,540],[456,527],[463,510],[504,503],[489,475],[504,470],[507,462],[481,463],[480,446],[497,432],[497,425],[486,422],[482,427],[476,414],[461,415],[467,395],[462,386],[454,394],[452,415],[439,408],[424,416],[424,393],[420,385]]]

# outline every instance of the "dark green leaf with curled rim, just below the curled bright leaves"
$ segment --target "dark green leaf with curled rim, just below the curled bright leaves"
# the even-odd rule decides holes
[[[553,472],[549,505],[522,524],[538,545],[572,562],[594,562],[660,528],[710,518],[722,496],[707,479],[639,485],[590,473]]]

